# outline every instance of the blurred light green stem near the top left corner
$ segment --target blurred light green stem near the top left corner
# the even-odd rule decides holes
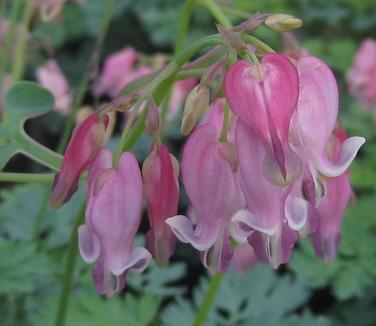
[[[18,34],[16,40],[16,53],[12,68],[12,83],[20,80],[25,70],[25,55],[27,48],[27,38],[29,33],[29,27],[31,18],[33,16],[33,1],[26,1],[24,5],[24,11],[22,16],[22,30]]]

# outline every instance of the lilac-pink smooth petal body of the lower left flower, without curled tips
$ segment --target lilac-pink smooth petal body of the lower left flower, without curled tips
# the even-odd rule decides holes
[[[127,266],[141,219],[142,179],[132,153],[122,154],[119,170],[95,197],[90,221],[101,241],[105,266],[118,272]]]

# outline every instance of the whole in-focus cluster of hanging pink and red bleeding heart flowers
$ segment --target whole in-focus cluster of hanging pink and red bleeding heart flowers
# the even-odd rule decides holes
[[[236,41],[233,31],[220,33]],[[98,292],[120,291],[128,271],[141,272],[152,257],[165,266],[177,239],[198,250],[211,273],[225,272],[232,260],[253,264],[255,257],[277,268],[308,234],[317,255],[335,257],[353,197],[347,169],[365,139],[347,138],[338,122],[337,83],[323,61],[278,53],[259,61],[252,48],[245,55],[240,48],[242,60],[215,63],[186,99],[182,132],[191,134],[181,175],[191,203],[187,216],[178,215],[179,163],[160,142],[156,106],[143,107],[154,144],[142,171],[131,152],[118,159],[104,147],[108,111],[93,113],[74,130],[51,205],[67,202],[88,171],[79,247],[86,262],[97,261]],[[131,77],[117,74],[115,63],[131,67],[136,58],[127,49],[109,62],[97,92],[116,96]],[[143,198],[148,249],[133,247]]]

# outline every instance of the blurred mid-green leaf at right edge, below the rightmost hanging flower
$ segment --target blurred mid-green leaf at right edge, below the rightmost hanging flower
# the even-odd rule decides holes
[[[374,196],[358,198],[342,222],[336,259],[325,263],[316,257],[309,239],[302,241],[289,267],[312,288],[332,286],[339,300],[363,296],[376,282]]]

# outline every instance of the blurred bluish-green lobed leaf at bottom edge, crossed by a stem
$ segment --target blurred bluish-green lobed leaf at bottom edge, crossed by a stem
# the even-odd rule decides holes
[[[201,279],[195,289],[193,303],[178,298],[162,313],[166,325],[192,325],[195,312],[201,305],[207,291],[207,278]],[[309,292],[304,283],[290,276],[277,276],[265,265],[257,265],[248,273],[230,271],[224,275],[213,309],[205,325],[328,325],[326,319],[302,315],[294,311],[308,300]],[[305,325],[305,324],[304,324]]]

